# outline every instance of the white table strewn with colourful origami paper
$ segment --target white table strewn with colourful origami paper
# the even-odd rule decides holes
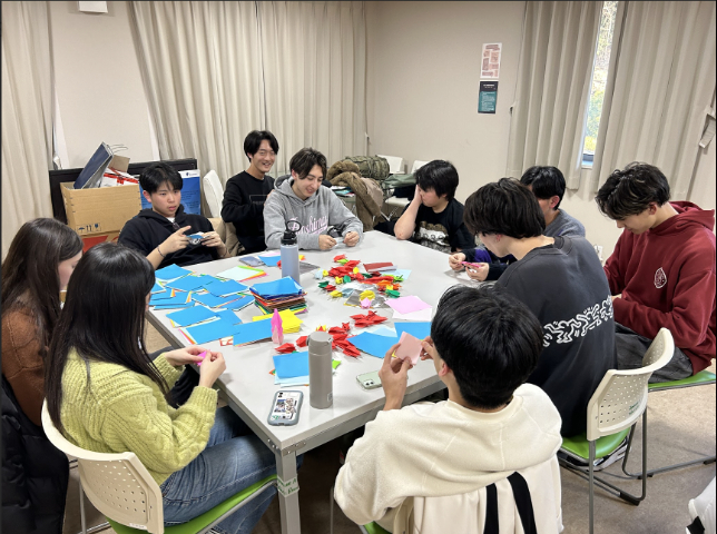
[[[393,236],[380,231],[364,234],[362,243],[348,248],[343,244],[332,250],[302,250],[306,261],[331,269],[338,264],[334,256],[345,254],[348,259],[365,263],[392,261],[400,269],[411,269],[407,280],[401,284],[402,295],[416,295],[433,306],[433,313],[441,295],[455,284],[470,284],[456,277],[448,266],[448,256],[443,253],[400,241]],[[216,275],[239,264],[238,258],[227,258],[206,264],[194,265],[191,270],[207,275]],[[245,284],[269,281],[281,278],[277,267],[264,267],[267,276],[246,280]],[[327,278],[326,278],[327,279]],[[365,314],[365,309],[344,306],[345,298],[332,298],[318,288],[318,281],[311,273],[301,275],[301,284],[306,291],[308,310],[297,315],[304,324],[298,334],[285,335],[285,342],[295,342],[299,336],[308,335],[316,327],[341,326],[351,322],[351,315]],[[371,286],[367,286],[370,288]],[[392,308],[374,309],[379,315],[389,317],[382,325],[392,325]],[[174,328],[167,319],[166,310],[148,313],[149,322],[175,347],[188,346],[189,342]],[[169,310],[171,313],[171,310]],[[262,315],[255,305],[237,313],[244,322]],[[352,328],[351,335],[360,334],[362,328]],[[283,534],[301,532],[298,514],[298,483],[296,477],[296,455],[311,451],[338,436],[346,434],[372,421],[383,408],[385,397],[382,388],[364,390],[356,382],[356,375],[377,370],[382,359],[364,353],[357,358],[335,352],[342,365],[334,375],[333,406],[326,409],[312,408],[308,402],[308,387],[293,386],[291,389],[304,392],[299,421],[294,426],[271,426],[267,423],[274,394],[279,386],[274,384],[269,372],[274,368],[272,359],[272,342],[264,342],[244,347],[222,347],[219,342],[202,345],[210,350],[219,350],[226,359],[226,372],[218,378],[217,386],[224,392],[228,405],[254,431],[254,433],[274,451],[279,479],[279,510]],[[442,389],[431,360],[419,362],[409,372],[409,386],[404,405],[414,403],[432,393]]]

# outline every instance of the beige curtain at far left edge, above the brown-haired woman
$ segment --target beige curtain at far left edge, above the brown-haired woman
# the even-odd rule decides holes
[[[2,2],[2,257],[16,233],[52,217],[52,61],[47,2]]]

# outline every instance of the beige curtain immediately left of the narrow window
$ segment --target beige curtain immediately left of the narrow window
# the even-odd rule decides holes
[[[526,2],[508,176],[558,167],[580,185],[583,131],[602,2]]]

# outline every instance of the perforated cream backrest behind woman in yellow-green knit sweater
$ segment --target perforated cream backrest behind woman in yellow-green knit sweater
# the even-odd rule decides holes
[[[42,428],[52,445],[77,458],[82,490],[100,513],[151,534],[164,532],[161,491],[135,453],[95,453],[73,445],[52,424],[47,400]]]

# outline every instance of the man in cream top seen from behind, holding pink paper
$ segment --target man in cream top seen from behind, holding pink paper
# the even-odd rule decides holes
[[[366,424],[336,477],[346,516],[395,533],[483,532],[475,524],[475,506],[485,506],[479,491],[517,473],[531,488],[524,496],[532,496],[536,532],[560,532],[560,415],[544,392],[526,384],[542,350],[540,323],[528,307],[490,288],[445,291],[421,356],[448,387],[444,402],[401,408],[411,364],[392,359],[396,347],[379,372],[383,412]],[[423,513],[415,497],[429,497],[421,500]],[[415,526],[407,520],[412,505]],[[499,522],[514,521],[512,500],[499,494],[498,512]]]

